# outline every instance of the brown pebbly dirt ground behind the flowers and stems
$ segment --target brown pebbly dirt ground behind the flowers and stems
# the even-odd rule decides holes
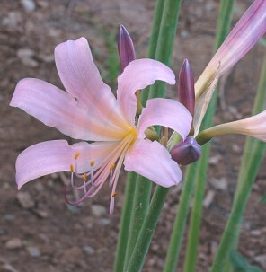
[[[212,56],[217,0],[184,0],[176,34],[172,68],[178,73],[189,58],[196,78]],[[234,23],[253,1],[236,1]],[[73,140],[46,127],[22,110],[8,106],[16,83],[36,77],[62,87],[53,58],[55,46],[86,37],[106,83],[118,75],[116,32],[124,24],[134,40],[137,57],[146,57],[155,1],[143,0],[1,0],[0,8],[0,271],[111,272],[119,232],[126,173],[122,172],[114,215],[109,215],[110,189],[82,206],[67,206],[62,185],[67,175],[54,174],[30,182],[18,193],[14,181],[16,156],[27,146],[51,139]],[[256,46],[224,77],[216,123],[248,117],[265,48]],[[115,89],[114,89],[115,90]],[[170,88],[167,95],[176,98]],[[244,137],[213,141],[208,187],[200,233],[197,271],[206,272],[228,218]],[[266,160],[246,208],[239,250],[266,271]],[[143,271],[162,271],[180,196],[171,189]],[[73,197],[70,195],[70,197]],[[182,271],[184,247],[178,272]]]

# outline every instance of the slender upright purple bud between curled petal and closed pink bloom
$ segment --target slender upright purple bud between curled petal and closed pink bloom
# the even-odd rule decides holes
[[[179,101],[191,112],[191,115],[194,116],[194,75],[191,65],[187,59],[184,60],[179,73],[178,96]]]

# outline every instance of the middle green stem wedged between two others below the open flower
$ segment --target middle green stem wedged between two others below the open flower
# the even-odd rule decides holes
[[[133,207],[131,213],[131,223],[129,226],[129,236],[127,253],[125,258],[124,270],[129,265],[129,259],[134,250],[137,236],[140,232],[143,221],[146,217],[147,209],[149,206],[152,182],[142,176],[137,175],[135,195],[133,198]]]

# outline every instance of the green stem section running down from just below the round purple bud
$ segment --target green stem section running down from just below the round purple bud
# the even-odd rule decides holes
[[[182,246],[182,236],[190,209],[190,200],[195,182],[195,172],[198,167],[199,162],[193,163],[187,167],[178,212],[175,216],[173,232],[167,250],[164,272],[174,272],[176,270],[178,255]]]

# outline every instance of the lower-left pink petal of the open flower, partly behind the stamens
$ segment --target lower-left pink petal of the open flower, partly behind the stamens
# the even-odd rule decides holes
[[[16,182],[18,189],[28,181],[58,171],[70,171],[70,165],[75,165],[75,154],[78,157],[77,170],[88,171],[90,162],[100,163],[116,146],[116,142],[94,143],[85,142],[68,145],[65,140],[55,140],[31,145],[19,154],[16,161]],[[97,166],[97,165],[96,165]]]

